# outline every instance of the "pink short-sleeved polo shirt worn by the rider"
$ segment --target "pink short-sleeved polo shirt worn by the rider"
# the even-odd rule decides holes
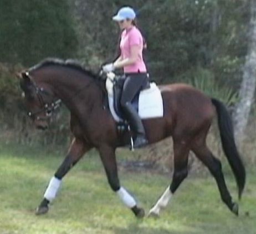
[[[139,56],[134,64],[124,67],[124,72],[146,72],[147,69],[142,57],[143,38],[140,30],[137,29],[136,26],[132,26],[132,28],[129,30],[124,30],[121,34],[120,49],[122,59],[127,59],[130,57],[131,46],[133,45],[139,45]]]

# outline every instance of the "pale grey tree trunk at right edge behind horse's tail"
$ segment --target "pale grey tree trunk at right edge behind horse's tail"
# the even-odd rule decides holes
[[[243,142],[244,130],[247,126],[250,109],[253,104],[256,84],[256,1],[250,1],[250,24],[248,54],[243,68],[243,79],[239,91],[240,101],[235,109],[235,136],[239,143]]]

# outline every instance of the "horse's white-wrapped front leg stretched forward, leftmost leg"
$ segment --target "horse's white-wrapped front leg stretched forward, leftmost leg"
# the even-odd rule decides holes
[[[48,212],[48,204],[52,202],[57,195],[60,184],[62,183],[62,178],[66,173],[68,173],[71,167],[73,167],[79,161],[84,153],[90,150],[90,148],[91,147],[88,146],[83,140],[77,138],[73,139],[68,151],[68,155],[66,155],[57,172],[55,172],[54,177],[50,179],[48,187],[44,193],[44,198],[35,212],[36,215],[42,215]]]

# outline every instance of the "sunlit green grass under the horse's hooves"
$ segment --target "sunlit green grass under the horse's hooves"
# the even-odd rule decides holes
[[[220,199],[214,179],[190,176],[183,182],[160,219],[137,220],[107,184],[95,152],[65,177],[58,198],[44,216],[34,210],[63,157],[25,148],[0,147],[0,233],[256,233],[256,173],[247,186],[235,217]],[[225,167],[226,168],[226,167]],[[235,200],[234,178],[225,173]],[[171,175],[120,171],[120,180],[147,211],[171,181]]]

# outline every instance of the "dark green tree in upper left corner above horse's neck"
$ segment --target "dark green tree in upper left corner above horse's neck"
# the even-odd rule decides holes
[[[0,62],[31,66],[44,57],[76,54],[76,34],[66,0],[1,0]]]

